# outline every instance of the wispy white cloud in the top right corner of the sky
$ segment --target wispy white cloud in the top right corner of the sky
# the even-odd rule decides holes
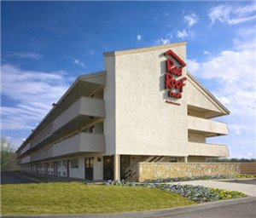
[[[250,20],[255,20],[255,12],[255,3],[250,3],[246,6],[239,6],[237,4],[220,4],[216,7],[211,8],[209,10],[208,16],[212,21],[212,24],[215,23],[216,20],[218,20],[222,23],[227,23],[229,25],[236,25]]]

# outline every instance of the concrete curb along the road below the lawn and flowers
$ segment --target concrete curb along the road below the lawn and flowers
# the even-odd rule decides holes
[[[149,218],[149,217],[163,217],[169,215],[180,215],[186,214],[189,212],[195,212],[204,209],[212,209],[224,207],[227,205],[233,204],[246,204],[250,202],[256,202],[255,197],[247,197],[247,198],[236,198],[230,200],[220,200],[209,203],[195,204],[192,206],[186,207],[178,207],[173,209],[157,209],[157,210],[149,210],[149,211],[137,211],[137,212],[124,212],[124,213],[109,213],[109,214],[87,214],[87,215],[4,215],[3,217],[9,218],[21,218],[21,217],[29,217],[29,218]]]

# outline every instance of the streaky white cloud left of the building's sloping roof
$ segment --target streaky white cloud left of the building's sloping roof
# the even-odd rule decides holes
[[[24,71],[11,65],[2,66],[2,93],[9,101],[1,106],[2,129],[33,129],[44,118],[53,102],[67,90],[66,72]],[[21,142],[21,141],[20,141]]]

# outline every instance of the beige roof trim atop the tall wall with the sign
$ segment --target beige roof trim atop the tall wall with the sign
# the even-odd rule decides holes
[[[133,53],[139,53],[139,52],[145,52],[145,51],[152,51],[156,49],[170,49],[170,47],[177,47],[181,45],[187,45],[187,42],[180,42],[180,43],[169,43],[169,44],[162,44],[162,45],[156,45],[153,47],[144,47],[144,48],[138,48],[138,49],[126,49],[126,50],[119,50],[119,51],[111,51],[111,52],[105,52],[104,57],[108,56],[118,56],[122,54],[133,54]]]

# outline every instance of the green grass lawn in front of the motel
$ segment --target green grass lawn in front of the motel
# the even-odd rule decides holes
[[[1,185],[1,194],[2,215],[110,213],[195,204],[160,189],[82,182]]]

